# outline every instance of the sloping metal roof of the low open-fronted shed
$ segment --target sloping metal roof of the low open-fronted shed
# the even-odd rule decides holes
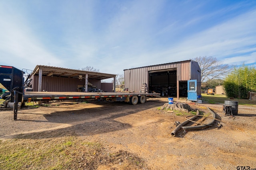
[[[32,75],[39,75],[39,69],[42,69],[43,76],[56,76],[56,77],[66,77],[66,78],[85,78],[85,75],[88,74],[88,79],[93,80],[104,80],[107,78],[114,78],[116,74],[106,74],[101,72],[90,72],[83,70],[74,70],[69,68],[60,68],[54,66],[44,66],[37,65],[36,68],[32,71]]]

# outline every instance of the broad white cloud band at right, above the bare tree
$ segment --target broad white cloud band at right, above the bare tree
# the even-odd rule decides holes
[[[256,10],[189,36],[187,40],[160,53],[160,56],[184,59],[211,55],[224,58],[236,53],[252,52],[255,48],[251,45],[255,45],[255,39]]]

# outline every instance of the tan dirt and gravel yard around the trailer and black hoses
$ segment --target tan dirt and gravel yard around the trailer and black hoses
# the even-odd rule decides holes
[[[158,109],[167,102],[167,98],[149,99],[137,105],[53,102],[47,107],[19,109],[19,121],[11,121],[12,110],[1,109],[0,140],[15,138],[17,134],[30,134],[38,139],[39,132],[50,131],[49,135],[72,132],[100,142],[112,152],[124,150],[136,154],[152,170],[256,168],[256,107],[239,106],[238,115],[231,118],[222,113],[221,104],[189,103],[193,109],[205,113],[206,107],[210,107],[221,119],[222,127],[179,131],[172,137],[174,122],[182,123],[186,115]],[[111,167],[102,165],[98,169]]]

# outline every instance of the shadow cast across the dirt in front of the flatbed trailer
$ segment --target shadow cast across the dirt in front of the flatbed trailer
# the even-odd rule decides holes
[[[95,103],[94,103],[95,104]],[[118,117],[145,111],[153,107],[162,106],[161,102],[148,101],[145,104],[130,105],[123,102],[96,102],[102,107],[80,108],[76,110],[55,111],[42,115],[46,120],[20,120],[22,124],[38,123],[38,127],[43,125],[55,125],[55,127],[45,128],[44,131],[28,132],[17,135],[18,139],[42,139],[61,137],[68,135],[96,135],[108,133],[122,129],[128,129],[130,124],[116,121]],[[22,113],[20,113],[22,114]],[[27,114],[27,113],[24,113]],[[61,123],[61,124],[60,124]],[[60,127],[58,127],[60,125]],[[67,125],[62,127],[62,125]],[[34,129],[33,129],[34,130]],[[22,132],[21,132],[22,133]]]

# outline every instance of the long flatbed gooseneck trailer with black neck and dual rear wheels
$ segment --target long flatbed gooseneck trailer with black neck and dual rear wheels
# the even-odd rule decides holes
[[[17,119],[18,105],[25,102],[50,100],[87,100],[106,99],[112,101],[129,102],[132,105],[144,104],[146,98],[160,98],[158,93],[132,92],[24,92],[24,72],[13,66],[0,65],[0,83],[10,92],[4,107],[13,106],[14,119]],[[6,96],[6,95],[5,95]]]

